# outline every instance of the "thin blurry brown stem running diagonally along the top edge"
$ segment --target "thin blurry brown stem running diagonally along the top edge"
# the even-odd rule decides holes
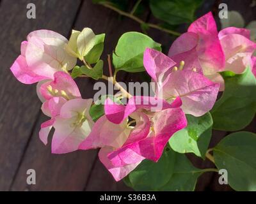
[[[125,11],[122,11],[122,10],[116,8],[115,6],[111,6],[111,4],[108,4],[108,3],[99,3],[99,4],[102,4],[102,6],[105,6],[106,8],[109,8],[109,9],[111,9],[113,11],[116,11],[120,15],[124,15],[125,17],[131,18],[132,20],[135,20],[139,24],[147,24],[148,27],[152,27],[154,29],[163,31],[165,33],[173,34],[174,36],[180,36],[180,33],[176,32],[176,31],[165,29],[164,27],[161,27],[161,26],[156,25],[156,24],[148,24],[148,23],[144,22],[143,20],[141,20],[140,18],[132,15],[131,13],[127,13]]]

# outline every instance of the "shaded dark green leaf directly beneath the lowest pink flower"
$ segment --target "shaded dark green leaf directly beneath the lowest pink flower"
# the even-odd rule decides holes
[[[204,171],[195,168],[184,154],[167,149],[157,163],[143,160],[129,174],[129,185],[136,191],[194,191]]]

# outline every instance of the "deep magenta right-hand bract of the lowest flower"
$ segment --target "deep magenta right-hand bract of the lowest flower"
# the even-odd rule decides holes
[[[115,161],[116,157],[120,157],[124,151],[131,149],[140,156],[157,162],[170,137],[187,125],[186,117],[181,108],[168,108],[156,112],[150,121],[151,127],[147,136],[138,138],[138,140],[129,136],[128,139],[133,140],[133,142],[109,154],[109,159]]]

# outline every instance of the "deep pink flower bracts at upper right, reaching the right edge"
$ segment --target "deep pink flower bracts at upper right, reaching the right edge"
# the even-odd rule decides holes
[[[168,56],[179,64],[193,64],[197,70],[212,82],[225,89],[220,71],[233,71],[241,74],[246,66],[252,66],[252,53],[256,46],[250,41],[250,31],[227,27],[218,33],[216,23],[209,12],[193,22],[188,33],[182,34],[170,47]],[[190,66],[191,67],[191,66]]]

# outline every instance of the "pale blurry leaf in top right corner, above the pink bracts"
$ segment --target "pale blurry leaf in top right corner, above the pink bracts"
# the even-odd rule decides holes
[[[244,27],[244,18],[237,11],[228,11],[228,18],[220,18],[221,28]]]

